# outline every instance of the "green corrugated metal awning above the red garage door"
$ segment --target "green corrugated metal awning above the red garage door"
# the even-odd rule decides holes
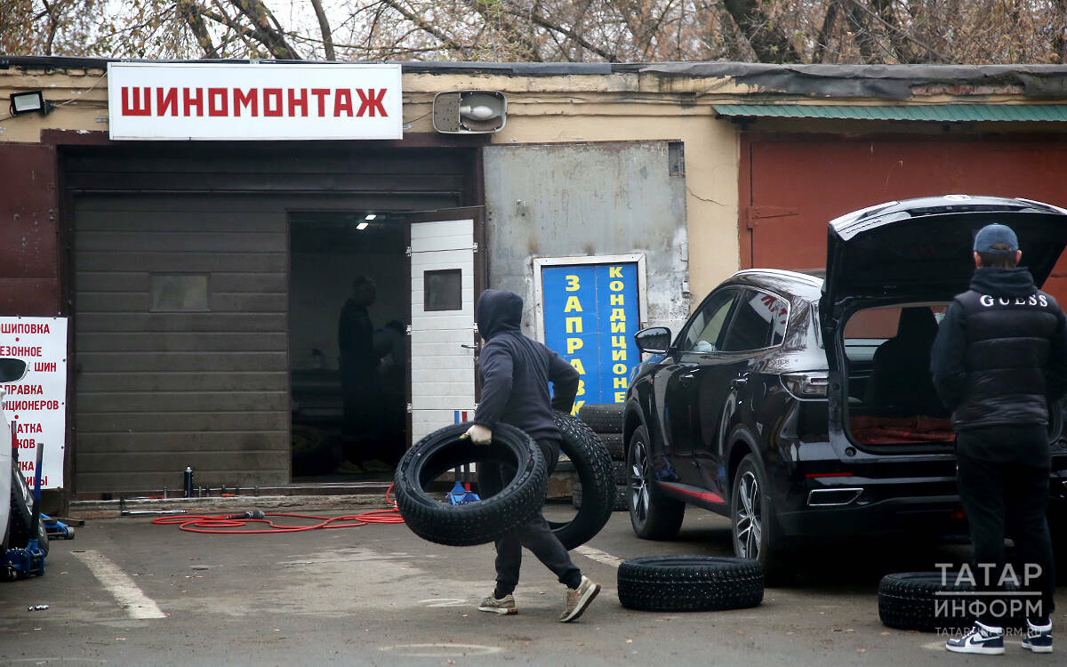
[[[714,105],[731,117],[859,121],[1067,121],[1067,105]]]

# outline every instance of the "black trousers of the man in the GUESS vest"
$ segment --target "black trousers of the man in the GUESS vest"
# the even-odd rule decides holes
[[[1055,608],[1056,582],[1052,540],[1045,517],[1049,505],[1049,469],[974,458],[967,454],[967,438],[966,431],[957,436],[956,481],[970,525],[972,568],[978,590],[998,588],[1005,565],[1004,538],[1010,537],[1020,561],[1014,567],[1020,589],[1040,593],[1040,613],[1028,616],[1031,620],[1048,617]],[[1040,568],[1039,574],[1028,583],[1026,574],[1037,571],[1035,566]],[[1028,597],[1024,602],[1035,599]],[[990,609],[978,620],[988,625],[1003,625],[1005,619],[998,618]]]

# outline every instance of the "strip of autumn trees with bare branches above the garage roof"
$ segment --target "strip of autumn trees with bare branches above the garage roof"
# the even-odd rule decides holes
[[[0,0],[5,53],[1064,63],[1067,0]]]

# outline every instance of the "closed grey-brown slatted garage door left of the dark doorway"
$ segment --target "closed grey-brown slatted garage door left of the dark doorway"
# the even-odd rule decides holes
[[[79,492],[289,478],[285,211],[78,197]]]

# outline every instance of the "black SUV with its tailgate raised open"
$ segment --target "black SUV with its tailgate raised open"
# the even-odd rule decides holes
[[[806,537],[965,533],[927,369],[937,322],[974,270],[974,234],[992,222],[1016,229],[1041,285],[1067,244],[1067,210],[925,197],[830,222],[825,271],[734,274],[673,343],[662,327],[638,332],[655,356],[626,394],[634,531],[669,539],[697,505],[729,517],[736,555],[771,576]],[[1067,444],[1062,409],[1050,414],[1050,519],[1063,536]]]

